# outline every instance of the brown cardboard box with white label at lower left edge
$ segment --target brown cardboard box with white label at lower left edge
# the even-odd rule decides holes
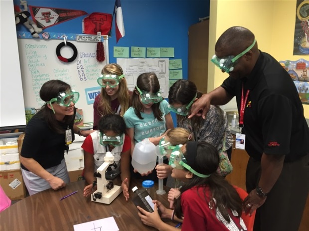
[[[0,185],[11,200],[26,197],[26,187],[20,169],[0,172]]]

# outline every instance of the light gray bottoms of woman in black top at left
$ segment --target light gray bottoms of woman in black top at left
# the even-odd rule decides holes
[[[45,170],[50,174],[52,174],[53,176],[59,177],[66,184],[70,183],[70,178],[68,170],[66,168],[65,159],[63,159],[59,165],[47,168]],[[24,169],[21,169],[21,172],[30,196],[35,193],[41,192],[45,189],[51,188],[50,184],[43,178],[39,177],[38,175]]]

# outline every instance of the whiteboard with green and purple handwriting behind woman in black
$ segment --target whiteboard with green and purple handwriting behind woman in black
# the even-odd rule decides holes
[[[77,48],[77,58],[70,63],[62,62],[56,55],[57,46],[61,39],[18,39],[22,87],[25,107],[40,108],[45,102],[40,99],[41,86],[51,79],[59,79],[71,85],[80,93],[75,107],[83,110],[84,122],[93,122],[93,104],[89,103],[86,89],[100,91],[97,78],[102,68],[109,62],[108,39],[103,40],[105,61],[96,60],[97,42],[77,42],[70,40]],[[73,56],[73,50],[64,46],[61,55],[65,58]],[[87,100],[88,97],[88,100]],[[95,97],[95,95],[92,95]]]

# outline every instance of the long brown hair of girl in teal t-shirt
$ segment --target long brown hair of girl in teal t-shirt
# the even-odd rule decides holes
[[[156,74],[153,72],[143,73],[139,75],[136,81],[136,86],[138,86],[141,91],[145,92],[157,93],[158,91],[160,91],[159,80]],[[132,107],[134,108],[135,115],[138,116],[139,119],[143,119],[141,115],[141,111],[143,110],[143,104],[140,101],[140,94],[136,88],[134,88],[131,102]],[[159,107],[160,103],[155,103],[152,105],[152,110],[154,113],[154,117],[159,121],[163,121],[163,113],[161,112]]]

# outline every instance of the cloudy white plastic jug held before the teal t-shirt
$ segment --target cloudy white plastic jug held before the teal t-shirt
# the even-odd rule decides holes
[[[139,173],[147,173],[155,168],[156,158],[155,145],[149,139],[144,139],[135,145],[131,164]]]

